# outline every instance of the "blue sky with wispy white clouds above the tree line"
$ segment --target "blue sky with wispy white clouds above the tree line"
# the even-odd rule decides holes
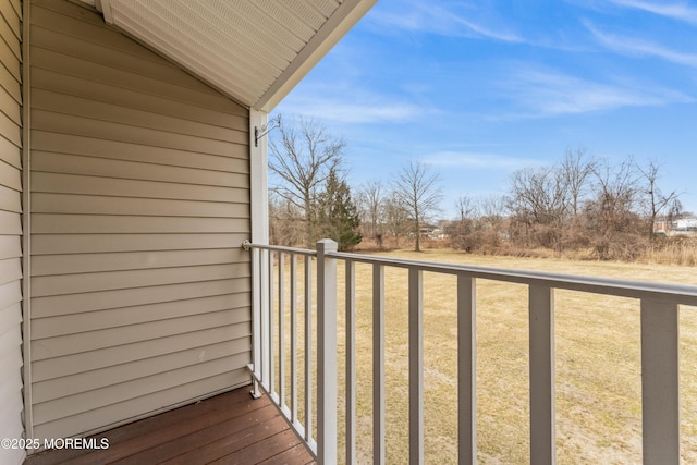
[[[345,138],[354,187],[429,163],[445,218],[578,148],[697,212],[697,2],[380,0],[276,112]]]

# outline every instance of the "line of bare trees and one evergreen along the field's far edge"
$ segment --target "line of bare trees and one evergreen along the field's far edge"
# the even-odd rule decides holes
[[[408,241],[419,250],[438,223],[450,245],[466,252],[584,249],[599,259],[633,259],[655,242],[659,217],[683,215],[680,194],[659,186],[661,164],[632,157],[611,163],[584,149],[567,150],[553,164],[512,173],[504,194],[458,196],[456,217],[437,222],[442,187],[432,166],[412,159],[391,179],[352,191],[345,142],[316,122],[284,124],[269,147],[278,180],[269,208],[276,244],[314,248],[330,237],[340,249],[352,249],[362,241],[377,248]]]

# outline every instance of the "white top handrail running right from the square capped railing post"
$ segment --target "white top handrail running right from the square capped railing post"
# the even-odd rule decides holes
[[[418,268],[447,274],[466,273],[473,278],[518,284],[541,284],[549,287],[590,292],[594,294],[613,295],[631,298],[655,298],[670,301],[680,305],[697,306],[697,286],[649,281],[622,280],[614,278],[586,277],[579,274],[551,273],[545,271],[515,270],[509,268],[479,267],[470,265],[445,264],[441,261],[412,260],[406,258],[376,257],[338,252],[329,257],[358,261],[364,264],[381,264],[394,268]]]

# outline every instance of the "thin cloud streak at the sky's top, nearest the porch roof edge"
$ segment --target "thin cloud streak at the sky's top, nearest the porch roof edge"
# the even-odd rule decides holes
[[[523,37],[501,24],[487,24],[448,10],[430,1],[409,1],[399,10],[376,11],[370,17],[383,27],[421,32],[442,36],[488,38],[505,42],[523,42]],[[474,14],[473,14],[474,17]]]

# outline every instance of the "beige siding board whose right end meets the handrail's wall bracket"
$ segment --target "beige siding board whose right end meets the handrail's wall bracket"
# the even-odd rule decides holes
[[[46,255],[32,258],[33,276],[74,274],[103,271],[151,270],[198,265],[246,264],[249,253],[242,248],[158,250],[145,253]],[[248,273],[247,273],[248,274]]]

